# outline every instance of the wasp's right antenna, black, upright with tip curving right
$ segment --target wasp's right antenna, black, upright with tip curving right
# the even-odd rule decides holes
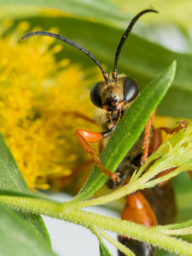
[[[140,12],[138,15],[136,15],[130,22],[129,26],[127,27],[127,29],[125,30],[125,33],[123,34],[123,37],[120,39],[116,54],[115,54],[115,58],[114,58],[114,69],[113,69],[113,79],[117,79],[117,63],[119,60],[119,54],[120,51],[123,47],[123,45],[125,44],[125,40],[126,38],[129,36],[132,27],[135,25],[136,21],[144,14],[149,13],[149,12],[153,12],[153,13],[158,13],[157,11],[155,11],[154,9],[144,9],[142,12]]]

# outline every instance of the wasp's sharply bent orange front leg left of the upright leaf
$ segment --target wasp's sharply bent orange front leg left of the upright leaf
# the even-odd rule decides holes
[[[119,182],[119,174],[109,172],[104,166],[102,166],[98,156],[93,152],[93,149],[90,148],[90,143],[96,143],[100,141],[103,137],[105,137],[105,135],[108,136],[108,133],[78,129],[75,131],[75,134],[79,139],[79,143],[84,147],[86,152],[90,154],[90,156],[95,161],[96,165],[100,168],[100,170],[108,177],[111,177],[113,179],[113,182]]]

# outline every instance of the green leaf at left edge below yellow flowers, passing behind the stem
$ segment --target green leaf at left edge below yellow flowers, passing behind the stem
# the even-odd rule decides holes
[[[18,190],[19,192],[26,191],[29,189],[26,185],[24,178],[22,177],[18,166],[16,165],[15,159],[9,151],[6,143],[3,140],[3,136],[0,134],[0,189]],[[27,224],[35,230],[38,235],[44,238],[49,244],[50,240],[48,231],[45,228],[43,219],[31,213],[15,211],[20,218],[22,218]]]

